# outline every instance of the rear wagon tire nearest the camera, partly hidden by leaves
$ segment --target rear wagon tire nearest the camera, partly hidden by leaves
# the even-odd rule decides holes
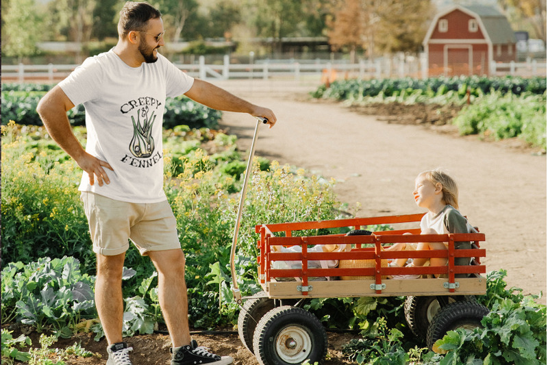
[[[489,314],[487,307],[475,301],[460,301],[443,307],[428,327],[426,335],[428,349],[432,350],[434,342],[443,338],[448,331],[458,328],[483,327],[482,319],[487,314]]]

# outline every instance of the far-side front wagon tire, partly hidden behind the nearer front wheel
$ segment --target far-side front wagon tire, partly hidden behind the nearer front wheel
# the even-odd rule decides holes
[[[253,353],[253,333],[255,333],[257,323],[266,312],[275,307],[274,299],[266,297],[264,292],[258,292],[253,297],[256,298],[245,301],[240,314],[238,314],[238,335],[251,353]]]

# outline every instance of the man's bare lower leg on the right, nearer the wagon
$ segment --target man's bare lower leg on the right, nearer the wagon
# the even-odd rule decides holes
[[[190,344],[188,300],[184,280],[184,253],[181,249],[149,251],[158,270],[158,299],[173,347]]]

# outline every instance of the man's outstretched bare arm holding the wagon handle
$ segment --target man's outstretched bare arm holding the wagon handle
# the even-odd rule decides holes
[[[192,88],[185,95],[209,108],[224,110],[225,112],[249,113],[252,116],[262,116],[268,120],[269,127],[276,123],[276,116],[272,110],[254,105],[232,95],[230,92],[210,84],[201,79],[195,79]]]

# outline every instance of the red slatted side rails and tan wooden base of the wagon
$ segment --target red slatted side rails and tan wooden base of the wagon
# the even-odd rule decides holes
[[[486,281],[480,274],[486,272],[481,264],[485,249],[480,243],[485,235],[433,234],[421,235],[416,224],[392,231],[375,231],[371,236],[295,236],[296,231],[351,227],[360,229],[367,225],[408,225],[418,223],[423,214],[350,218],[332,221],[277,223],[257,225],[260,233],[259,274],[260,284],[269,297],[351,297],[388,295],[454,295],[484,294]],[[284,232],[284,236],[275,236]],[[471,242],[471,249],[456,249],[455,242]],[[447,242],[447,250],[388,251],[397,242]],[[315,245],[351,244],[351,251],[311,252]],[[274,252],[272,247],[301,247],[297,252]],[[447,266],[388,267],[388,259],[446,257]],[[458,266],[455,259],[471,257],[471,264]],[[367,260],[370,267],[309,268],[308,262],[329,260]],[[292,268],[274,268],[274,262],[292,263]],[[297,262],[297,265],[295,265]],[[356,261],[353,261],[356,262]],[[364,261],[361,261],[364,262]],[[393,275],[422,275],[419,279],[389,279]],[[340,280],[340,277],[364,277],[365,279]],[[327,278],[314,281],[314,278]],[[289,280],[289,281],[288,281]]]

